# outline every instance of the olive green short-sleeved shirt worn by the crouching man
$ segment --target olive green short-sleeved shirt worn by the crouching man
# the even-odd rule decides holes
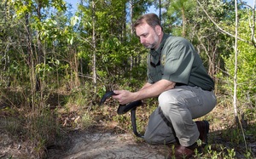
[[[149,83],[166,79],[176,85],[198,86],[204,90],[214,88],[199,54],[183,37],[164,34],[160,47],[150,50],[147,63]]]

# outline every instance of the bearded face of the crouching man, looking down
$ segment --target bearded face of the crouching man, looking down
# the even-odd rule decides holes
[[[157,26],[156,26],[157,27]],[[160,37],[158,32],[148,26],[147,23],[143,23],[135,28],[137,37],[140,37],[140,42],[145,48],[158,48],[160,44]]]

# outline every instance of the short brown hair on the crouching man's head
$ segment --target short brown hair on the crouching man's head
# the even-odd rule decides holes
[[[143,14],[134,22],[133,28],[135,29],[137,26],[143,24],[144,22],[146,22],[148,26],[151,26],[153,28],[155,26],[161,26],[161,21],[160,21],[160,18],[157,16],[157,14]]]

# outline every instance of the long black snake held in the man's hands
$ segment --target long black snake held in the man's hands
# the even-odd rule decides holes
[[[100,105],[102,105],[102,104],[106,101],[106,99],[112,97],[113,95],[117,95],[117,94],[114,94],[113,91],[109,91],[109,92],[107,92],[106,94],[104,94],[104,95],[102,96]],[[128,104],[128,105],[119,105],[119,108],[118,108],[118,110],[117,110],[117,113],[118,113],[119,115],[122,115],[122,114],[125,114],[125,113],[128,112],[128,111],[131,111],[131,126],[132,126],[133,133],[134,133],[137,137],[143,138],[143,134],[137,132],[137,124],[136,124],[136,108],[137,108],[137,106],[139,106],[139,105],[143,105],[142,100],[133,101],[133,102],[131,102],[131,103]]]

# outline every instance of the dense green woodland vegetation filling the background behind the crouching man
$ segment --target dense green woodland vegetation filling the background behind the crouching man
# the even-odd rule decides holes
[[[218,105],[196,119],[210,122],[209,145],[195,158],[255,158],[255,6],[238,3],[236,57],[235,2],[85,0],[75,13],[62,0],[1,2],[0,133],[25,143],[18,158],[47,158],[67,133],[102,123],[132,133],[130,113],[118,115],[117,101],[99,103],[109,90],[136,91],[147,81],[148,50],[131,25],[161,6],[164,31],[189,39],[215,82]],[[137,108],[139,132],[156,107],[157,99],[145,99]]]

